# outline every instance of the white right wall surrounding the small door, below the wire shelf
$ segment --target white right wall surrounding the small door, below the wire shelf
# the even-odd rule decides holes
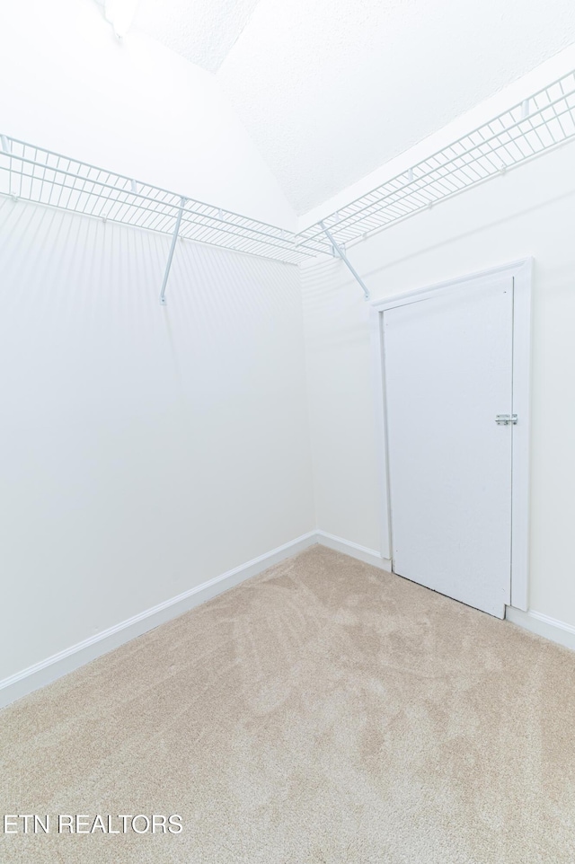
[[[349,198],[348,198],[349,199]],[[534,256],[530,608],[575,626],[575,143],[349,249],[374,299]],[[304,272],[318,526],[379,548],[368,304],[336,260]]]

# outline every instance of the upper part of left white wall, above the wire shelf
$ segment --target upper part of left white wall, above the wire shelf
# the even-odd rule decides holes
[[[0,132],[289,230],[295,216],[215,78],[93,0],[0,4]]]

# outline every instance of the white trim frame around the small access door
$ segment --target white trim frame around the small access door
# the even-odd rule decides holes
[[[385,413],[385,343],[384,315],[389,309],[418,303],[429,296],[440,295],[454,287],[474,286],[487,277],[513,278],[513,405],[518,415],[517,426],[512,427],[511,458],[511,605],[527,610],[529,586],[529,436],[531,427],[531,293],[533,259],[512,261],[500,267],[482,270],[471,275],[403,294],[387,296],[371,302],[370,332],[372,367],[374,372],[376,405],[377,476],[379,478],[380,551],[382,558],[391,560],[391,499],[389,489],[389,453],[387,447],[387,419]]]

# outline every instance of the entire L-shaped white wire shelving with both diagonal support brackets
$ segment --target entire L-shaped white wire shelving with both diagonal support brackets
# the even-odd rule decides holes
[[[575,137],[575,71],[299,234],[0,135],[0,195],[299,264],[346,249]]]

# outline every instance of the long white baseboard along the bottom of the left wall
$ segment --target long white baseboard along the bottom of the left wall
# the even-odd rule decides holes
[[[209,579],[202,585],[190,588],[183,594],[157,604],[151,609],[146,609],[144,612],[128,618],[127,621],[115,624],[108,630],[102,630],[101,633],[84,639],[84,641],[78,642],[64,651],[59,651],[52,657],[40,660],[40,663],[28,666],[27,669],[22,669],[22,672],[4,678],[3,681],[0,681],[0,709],[40,687],[45,687],[46,684],[56,681],[62,675],[73,672],[79,666],[84,666],[85,663],[95,660],[96,657],[108,654],[109,651],[119,648],[120,645],[129,642],[130,639],[142,636],[147,630],[154,630],[159,624],[164,624],[164,622],[177,618],[178,615],[188,612],[195,606],[211,600],[212,597],[222,594],[228,588],[239,585],[244,579],[256,576],[263,570],[278,564],[279,561],[304,551],[316,542],[319,540],[315,531],[302,534],[296,540],[284,543],[283,546],[247,561],[240,567],[228,570],[221,576]]]

